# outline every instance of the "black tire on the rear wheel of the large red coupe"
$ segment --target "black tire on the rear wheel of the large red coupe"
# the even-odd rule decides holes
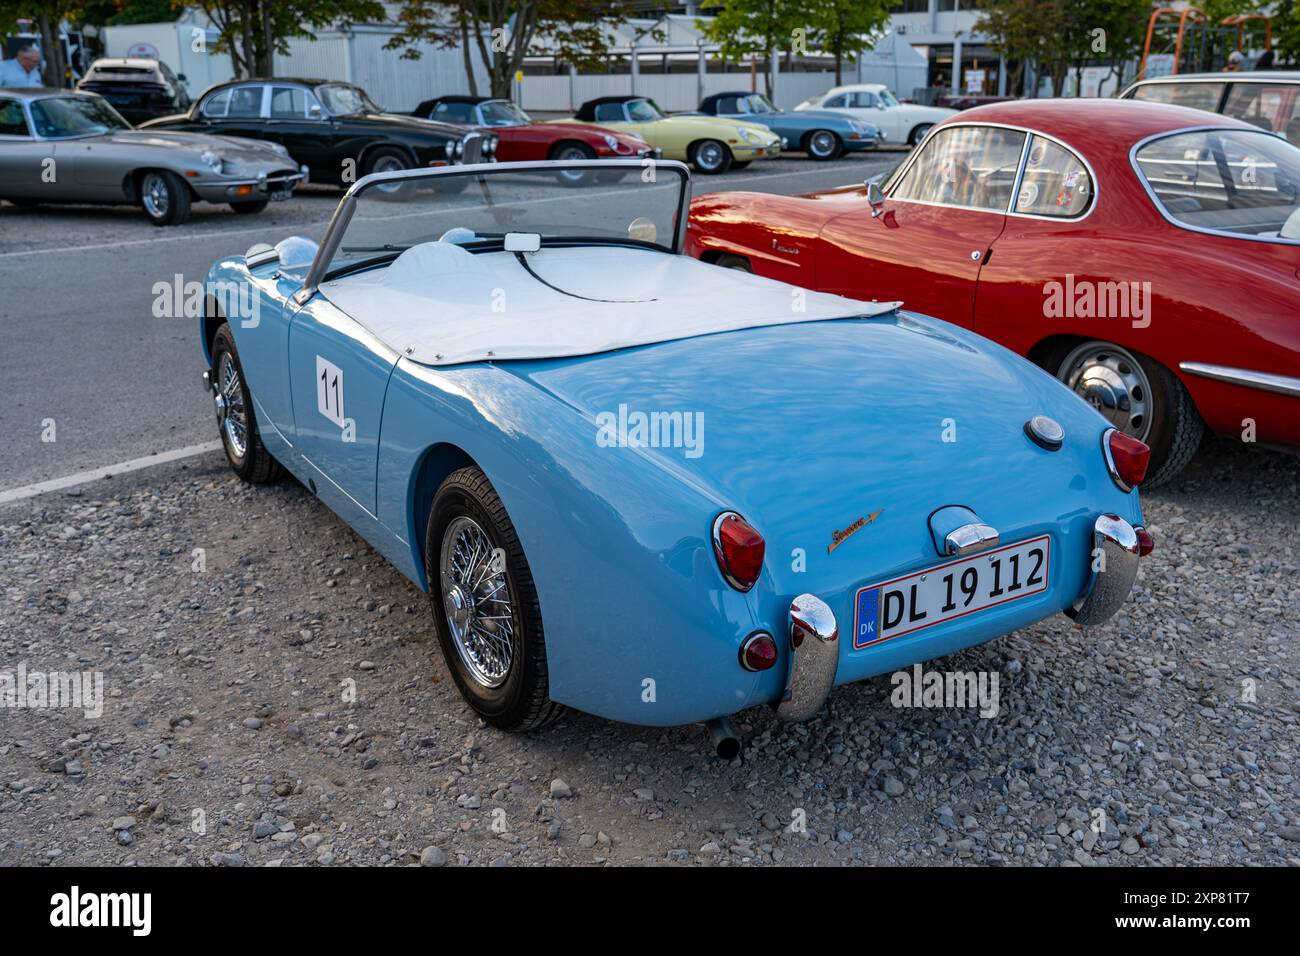
[[[1071,359],[1076,349],[1089,342],[1066,342],[1054,349],[1045,359],[1044,368],[1061,381],[1069,378]],[[1102,345],[1109,345],[1104,343]],[[1158,488],[1180,472],[1196,454],[1205,434],[1205,423],[1192,397],[1178,381],[1178,377],[1148,355],[1132,349],[1115,347],[1117,351],[1132,356],[1149,385],[1149,423],[1145,436],[1140,437],[1150,447],[1150,464],[1143,490]]]

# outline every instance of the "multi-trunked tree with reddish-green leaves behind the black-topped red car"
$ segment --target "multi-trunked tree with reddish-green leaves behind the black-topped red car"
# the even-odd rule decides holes
[[[406,0],[402,34],[386,46],[408,60],[420,59],[421,43],[459,47],[469,92],[478,95],[477,56],[490,95],[508,96],[524,57],[543,48],[578,68],[603,68],[610,27],[627,18],[628,7],[610,0]]]

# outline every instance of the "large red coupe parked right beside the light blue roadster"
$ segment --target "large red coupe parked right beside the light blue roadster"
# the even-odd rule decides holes
[[[1300,150],[1249,124],[1023,100],[936,126],[883,185],[701,196],[686,235],[706,261],[902,299],[1027,355],[1150,446],[1150,486],[1205,427],[1300,446],[1297,207]]]

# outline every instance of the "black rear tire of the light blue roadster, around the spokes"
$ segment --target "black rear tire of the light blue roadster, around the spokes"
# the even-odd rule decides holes
[[[443,606],[443,535],[459,518],[476,523],[493,549],[500,549],[506,554],[504,576],[512,598],[510,622],[516,640],[512,641],[508,670],[498,687],[489,687],[478,680],[465,665]],[[434,494],[425,532],[424,566],[429,576],[429,598],[442,656],[456,687],[474,713],[491,726],[511,732],[536,730],[564,713],[564,708],[551,701],[547,693],[550,683],[546,641],[533,572],[528,567],[515,525],[506,514],[506,506],[481,470],[468,467],[452,472]]]

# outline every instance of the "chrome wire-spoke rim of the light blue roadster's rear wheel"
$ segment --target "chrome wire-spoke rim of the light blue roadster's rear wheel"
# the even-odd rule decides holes
[[[472,518],[455,518],[442,535],[442,607],[469,676],[486,688],[506,683],[515,659],[515,600],[503,553]]]

